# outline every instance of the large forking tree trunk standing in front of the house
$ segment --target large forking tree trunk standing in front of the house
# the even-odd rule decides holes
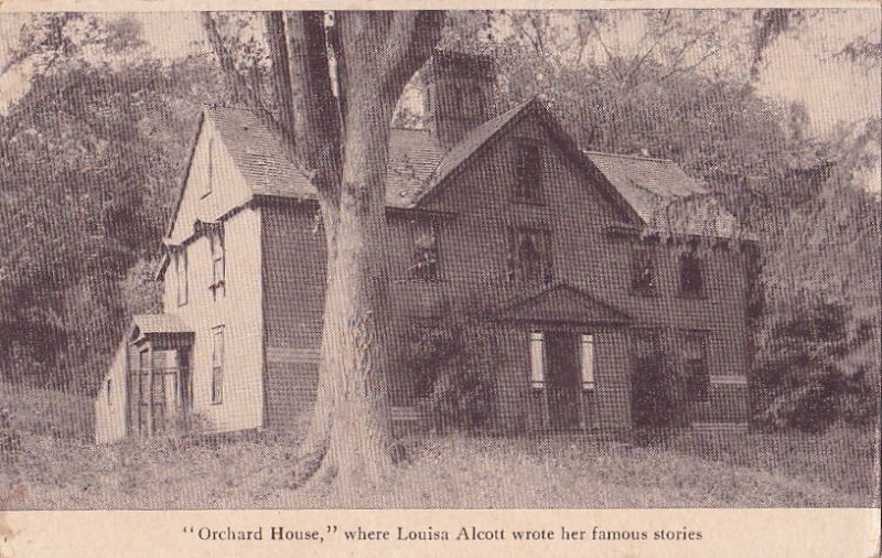
[[[389,125],[405,85],[440,37],[443,13],[336,12],[335,20],[327,28],[323,12],[268,13],[270,55],[273,67],[282,69],[273,81],[277,97],[294,107],[276,120],[260,110],[256,95],[247,97],[284,138],[293,162],[312,176],[325,229],[319,388],[294,483],[324,466],[352,486],[378,483],[395,455],[385,207]],[[232,83],[249,93],[228,63],[232,57],[211,17],[205,17],[205,29],[218,60],[227,62]]]

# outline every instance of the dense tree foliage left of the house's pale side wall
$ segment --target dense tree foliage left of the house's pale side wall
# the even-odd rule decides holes
[[[93,385],[129,311],[121,286],[152,292],[140,309],[155,307],[144,268],[182,170],[200,68],[132,60],[141,45],[130,20],[57,14],[25,24],[12,52],[33,71],[0,117],[4,377]]]

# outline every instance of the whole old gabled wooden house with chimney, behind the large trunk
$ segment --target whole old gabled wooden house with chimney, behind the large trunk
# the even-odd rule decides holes
[[[487,114],[481,56],[439,52],[426,75],[428,126],[391,130],[381,257],[396,315],[431,322],[464,296],[496,309],[491,423],[743,425],[734,218],[673,161],[580,150],[537,99]],[[315,393],[324,242],[312,186],[248,110],[204,110],[162,254],[163,313],[133,318],[95,403],[98,441],[194,415],[294,428]]]

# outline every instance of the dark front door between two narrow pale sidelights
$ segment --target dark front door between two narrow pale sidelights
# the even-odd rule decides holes
[[[579,335],[576,333],[546,333],[548,419],[552,430],[581,426],[579,347]]]

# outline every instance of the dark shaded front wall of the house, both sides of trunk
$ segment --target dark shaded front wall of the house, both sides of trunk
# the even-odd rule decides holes
[[[542,146],[545,203],[516,203],[516,141],[531,138]],[[399,319],[438,315],[444,300],[472,297],[494,302],[513,296],[507,286],[507,229],[512,225],[547,229],[552,238],[555,279],[616,305],[636,328],[663,332],[666,353],[679,361],[687,331],[708,335],[710,401],[690,408],[692,421],[732,421],[746,417],[747,335],[746,266],[731,247],[717,247],[706,258],[706,297],[678,296],[678,255],[660,245],[656,297],[631,290],[636,239],[613,236],[610,226],[624,216],[602,189],[549,131],[526,119],[466,163],[458,175],[426,201],[427,210],[453,212],[432,217],[411,212],[389,217],[386,257],[390,301]],[[275,428],[303,422],[315,393],[318,348],[324,293],[324,240],[316,232],[315,210],[295,202],[263,207],[263,285],[267,339],[267,421]],[[413,239],[435,226],[441,253],[441,281],[408,280]],[[529,387],[528,334],[535,324],[509,324],[502,334],[497,426],[542,428],[541,394]],[[596,332],[598,384],[583,394],[585,427],[616,430],[630,423],[632,334],[624,328]],[[404,371],[404,374],[408,374]],[[405,378],[407,382],[407,378]]]

